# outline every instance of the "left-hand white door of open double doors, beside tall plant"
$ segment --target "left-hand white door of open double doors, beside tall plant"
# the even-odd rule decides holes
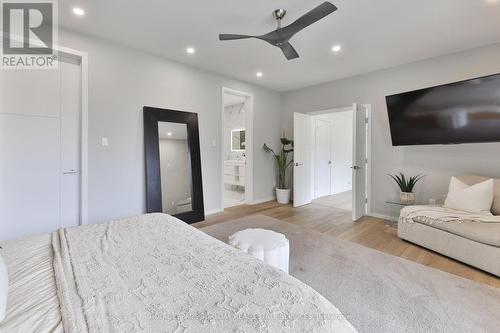
[[[299,207],[311,203],[312,182],[312,147],[313,117],[294,113],[294,167],[293,167],[293,206]]]

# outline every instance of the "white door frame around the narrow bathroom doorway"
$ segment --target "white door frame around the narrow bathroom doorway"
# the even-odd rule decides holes
[[[246,97],[248,108],[245,112],[245,203],[253,202],[253,95],[243,91],[222,87],[221,93],[221,211],[224,211],[224,95]]]

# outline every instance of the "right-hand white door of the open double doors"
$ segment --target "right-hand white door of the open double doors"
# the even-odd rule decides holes
[[[367,112],[362,105],[354,104],[353,155],[352,155],[352,219],[366,215],[366,133]]]

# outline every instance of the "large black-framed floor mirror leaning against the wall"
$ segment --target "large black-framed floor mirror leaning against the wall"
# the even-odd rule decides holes
[[[197,114],[144,107],[144,144],[147,212],[204,220]]]

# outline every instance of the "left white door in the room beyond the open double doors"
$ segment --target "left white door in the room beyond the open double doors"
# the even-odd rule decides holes
[[[316,119],[315,123],[314,198],[321,198],[331,194],[332,133],[329,121]]]

